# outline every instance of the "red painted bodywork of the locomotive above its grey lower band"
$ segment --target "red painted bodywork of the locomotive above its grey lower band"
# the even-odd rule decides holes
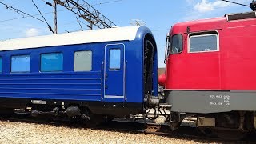
[[[190,33],[218,31],[219,51],[188,53]],[[167,90],[256,90],[256,18],[227,22],[226,17],[174,25],[183,51],[166,59]]]

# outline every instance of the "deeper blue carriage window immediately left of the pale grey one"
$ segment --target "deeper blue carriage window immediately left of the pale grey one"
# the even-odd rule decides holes
[[[63,54],[49,53],[41,54],[41,71],[62,71],[63,70]]]

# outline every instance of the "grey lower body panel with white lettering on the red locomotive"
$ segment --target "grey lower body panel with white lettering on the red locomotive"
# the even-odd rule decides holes
[[[219,113],[256,110],[254,90],[166,90],[171,110],[186,113]]]

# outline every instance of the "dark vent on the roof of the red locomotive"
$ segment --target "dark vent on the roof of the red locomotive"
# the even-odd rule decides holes
[[[227,21],[234,21],[239,19],[256,18],[256,12],[250,13],[238,13],[238,14],[226,14]]]

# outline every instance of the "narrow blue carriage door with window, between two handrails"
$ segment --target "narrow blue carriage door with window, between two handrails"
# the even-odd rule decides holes
[[[105,95],[109,102],[124,101],[125,98],[125,52],[124,45],[106,45],[105,47]],[[115,99],[115,100],[114,100]]]

